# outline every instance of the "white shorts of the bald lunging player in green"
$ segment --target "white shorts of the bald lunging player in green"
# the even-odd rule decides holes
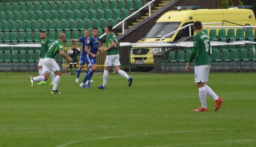
[[[50,71],[56,72],[60,70],[59,65],[56,63],[54,59],[44,58],[43,60],[43,74],[45,72],[50,73]]]

